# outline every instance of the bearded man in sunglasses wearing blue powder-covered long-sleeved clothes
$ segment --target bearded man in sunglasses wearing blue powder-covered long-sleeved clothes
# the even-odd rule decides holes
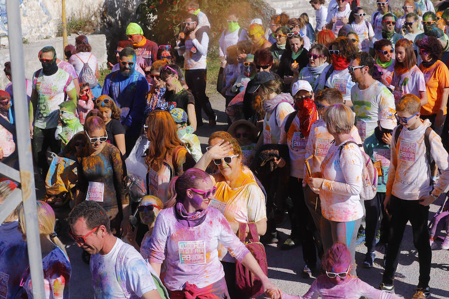
[[[148,82],[134,71],[136,52],[130,47],[119,53],[120,69],[106,76],[101,94],[110,96],[120,108],[120,118],[125,127],[126,152],[131,152],[144,123],[148,95]]]

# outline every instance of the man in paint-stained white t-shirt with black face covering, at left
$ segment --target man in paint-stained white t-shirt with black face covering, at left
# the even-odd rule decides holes
[[[58,126],[59,104],[66,98],[76,105],[73,78],[56,64],[56,51],[47,46],[39,51],[42,68],[33,74],[29,112],[33,158],[45,177],[48,170],[47,149],[59,152],[59,141],[54,139]]]

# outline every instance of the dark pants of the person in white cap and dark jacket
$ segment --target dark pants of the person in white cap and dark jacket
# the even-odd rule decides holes
[[[379,216],[382,211],[381,238],[388,242],[388,215],[384,209],[385,192],[377,192],[371,200],[364,200],[366,210],[365,245],[368,253],[374,252]]]

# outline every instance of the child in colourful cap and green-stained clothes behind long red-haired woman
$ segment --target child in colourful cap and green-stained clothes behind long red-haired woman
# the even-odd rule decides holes
[[[176,123],[178,128],[179,139],[186,144],[187,150],[192,154],[195,161],[203,156],[201,151],[201,144],[198,137],[193,134],[192,126],[187,125],[187,113],[181,108],[173,108],[170,110],[170,115]]]

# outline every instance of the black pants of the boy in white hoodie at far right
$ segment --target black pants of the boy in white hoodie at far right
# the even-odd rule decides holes
[[[387,259],[382,282],[386,285],[393,284],[399,262],[401,241],[407,222],[410,220],[413,230],[413,244],[418,250],[418,261],[420,264],[418,287],[428,287],[432,261],[432,250],[429,243],[429,232],[427,230],[429,207],[420,205],[418,200],[404,200],[392,195],[389,207],[387,208],[392,217],[390,221]]]

